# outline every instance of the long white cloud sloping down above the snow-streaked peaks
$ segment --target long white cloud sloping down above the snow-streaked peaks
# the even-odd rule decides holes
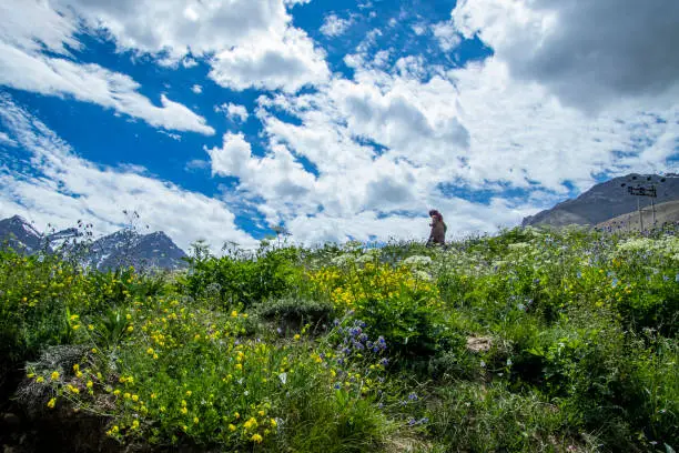
[[[235,215],[223,202],[134,168],[107,168],[81,159],[7,95],[0,97],[0,122],[26,152],[21,158],[31,163],[26,172],[0,167],[0,217],[18,213],[41,228],[48,222],[68,228],[82,219],[103,234],[125,223],[126,209],[138,211],[152,231],[166,232],[184,250],[197,239],[206,239],[214,250],[225,241],[256,244],[235,225]]]

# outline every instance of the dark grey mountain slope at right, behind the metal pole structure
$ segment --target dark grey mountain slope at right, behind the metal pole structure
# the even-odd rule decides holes
[[[628,184],[632,178],[636,178],[634,181],[645,182],[649,177],[659,179],[657,175],[632,173],[596,184],[576,199],[566,200],[551,209],[525,218],[521,225],[597,225],[636,211],[638,197],[628,194],[627,187],[621,184]],[[665,182],[657,184],[657,204],[679,199],[679,174],[669,173],[665,178]],[[640,201],[642,207],[650,204],[649,198],[642,197]]]

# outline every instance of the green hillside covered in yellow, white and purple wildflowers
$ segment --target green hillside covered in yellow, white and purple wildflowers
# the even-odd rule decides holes
[[[678,270],[675,231],[519,229],[447,250],[264,243],[166,275],[3,252],[1,404],[20,422],[0,441],[670,452]]]

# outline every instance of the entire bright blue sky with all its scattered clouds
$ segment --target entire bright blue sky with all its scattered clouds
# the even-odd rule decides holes
[[[423,239],[677,171],[679,7],[622,3],[0,0],[0,217]]]

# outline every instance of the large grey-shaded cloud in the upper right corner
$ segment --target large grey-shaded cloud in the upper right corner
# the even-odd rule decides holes
[[[541,83],[566,104],[597,111],[620,98],[657,104],[679,97],[676,0],[460,0],[453,19],[513,77]]]

